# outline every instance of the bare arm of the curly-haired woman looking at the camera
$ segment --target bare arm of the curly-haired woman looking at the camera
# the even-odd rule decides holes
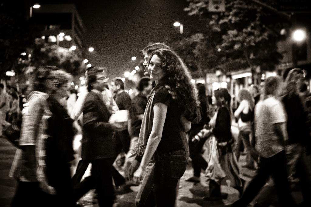
[[[152,124],[152,130],[148,138],[145,153],[142,156],[142,162],[139,168],[134,173],[134,177],[133,177],[134,183],[139,183],[141,181],[142,174],[144,173],[146,166],[150,162],[153,154],[155,153],[161,141],[165,118],[166,118],[166,112],[167,112],[167,106],[164,103],[158,102],[153,106],[154,120]]]

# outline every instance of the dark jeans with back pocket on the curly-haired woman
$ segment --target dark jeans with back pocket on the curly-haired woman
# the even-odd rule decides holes
[[[175,205],[176,186],[187,167],[185,151],[157,155],[154,168],[154,191],[158,207]]]

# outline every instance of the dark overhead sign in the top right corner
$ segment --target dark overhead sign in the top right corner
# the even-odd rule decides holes
[[[278,0],[278,11],[311,12],[310,0]]]

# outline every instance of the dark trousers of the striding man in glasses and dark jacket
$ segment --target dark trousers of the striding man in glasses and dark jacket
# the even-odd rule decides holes
[[[113,158],[91,160],[91,175],[78,183],[73,189],[74,201],[79,200],[91,189],[96,189],[98,194],[99,206],[112,206],[114,187],[112,182],[112,163]]]

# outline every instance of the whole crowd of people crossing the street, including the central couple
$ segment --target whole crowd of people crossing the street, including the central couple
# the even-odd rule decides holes
[[[121,78],[109,85],[100,67],[86,70],[87,87],[79,96],[70,91],[73,77],[54,66],[35,70],[25,102],[16,88],[4,92],[0,84],[0,127],[22,113],[9,174],[18,183],[11,206],[77,206],[91,189],[99,206],[114,206],[116,191],[131,182],[139,185],[136,206],[173,207],[190,159],[193,176],[186,181],[201,182],[204,172],[204,200],[224,199],[221,185],[227,185],[239,192],[232,206],[247,206],[263,190],[271,191],[270,197],[257,198],[257,205],[276,195],[280,206],[296,206],[290,184],[298,179],[300,205],[311,206],[311,98],[304,70],[291,70],[284,81],[271,76],[261,86],[242,88],[232,110],[228,89],[207,95],[204,84],[191,83],[186,65],[169,46],[151,44],[142,53],[146,77],[137,82],[134,98]],[[110,120],[121,111],[128,112],[125,124]],[[73,146],[77,133],[79,149]],[[247,187],[239,176],[242,151],[248,157],[243,167],[256,172]]]

